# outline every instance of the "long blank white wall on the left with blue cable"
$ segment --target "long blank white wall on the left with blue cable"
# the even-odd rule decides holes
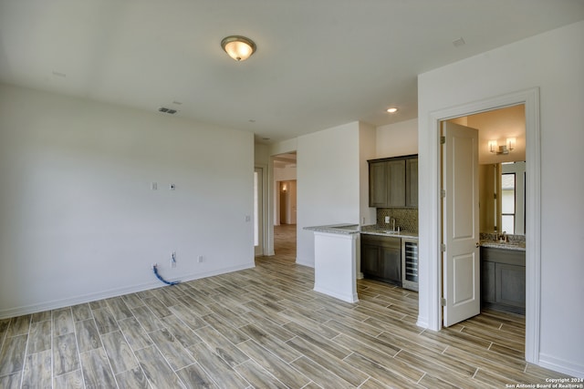
[[[0,317],[253,267],[253,168],[251,133],[0,86]]]

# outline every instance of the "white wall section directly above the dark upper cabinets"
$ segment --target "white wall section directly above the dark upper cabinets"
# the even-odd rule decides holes
[[[375,144],[376,158],[418,154],[418,119],[378,127]]]

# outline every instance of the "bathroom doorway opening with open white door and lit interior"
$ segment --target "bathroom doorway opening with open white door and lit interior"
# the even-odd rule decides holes
[[[450,326],[480,314],[484,305],[497,306],[492,303],[495,299],[490,298],[494,288],[491,283],[495,281],[488,271],[481,273],[484,265],[480,261],[478,242],[497,241],[501,236],[510,241],[525,241],[525,105],[452,118],[444,120],[442,125],[443,136],[447,128],[460,131],[454,138],[446,137],[442,148],[446,167],[443,189],[447,194],[443,193],[442,206],[443,243],[447,248],[443,251],[443,325]],[[475,134],[474,142],[470,142],[472,133]],[[463,150],[457,149],[457,144]],[[475,150],[467,154],[471,145]],[[474,160],[457,160],[454,166],[447,167],[454,159],[464,159],[466,154]],[[519,174],[520,170],[524,174]],[[444,175],[453,174],[455,177],[445,180]],[[457,190],[451,188],[453,182],[457,182]],[[457,254],[464,243],[464,251]],[[463,252],[464,255],[460,255]],[[519,277],[517,269],[520,268],[514,268],[514,273]],[[525,283],[518,278],[510,279],[508,274],[505,276],[507,283],[514,283],[503,290],[510,289],[514,295],[525,296]],[[521,311],[515,302],[509,309]]]

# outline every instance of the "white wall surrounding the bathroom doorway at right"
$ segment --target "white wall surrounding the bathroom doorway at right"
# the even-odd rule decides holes
[[[437,261],[436,128],[447,107],[539,87],[541,124],[541,321],[539,363],[584,376],[584,22],[422,74],[420,321],[432,315],[430,261]],[[527,157],[528,159],[528,157]],[[529,163],[529,161],[527,161]],[[559,189],[559,190],[558,190]],[[529,215],[527,215],[529,218]],[[533,237],[527,236],[527,240]],[[437,302],[437,300],[436,300]],[[434,307],[435,308],[435,307]]]

